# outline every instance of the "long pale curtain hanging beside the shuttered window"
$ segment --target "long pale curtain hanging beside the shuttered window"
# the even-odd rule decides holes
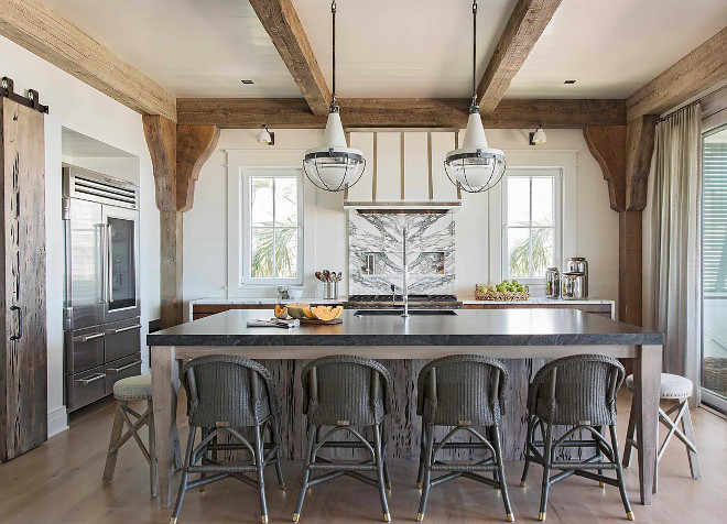
[[[698,405],[701,369],[701,198],[698,103],[657,124],[650,176],[651,279],[650,326],[665,335],[663,367],[695,385]],[[649,263],[649,261],[647,261]]]

